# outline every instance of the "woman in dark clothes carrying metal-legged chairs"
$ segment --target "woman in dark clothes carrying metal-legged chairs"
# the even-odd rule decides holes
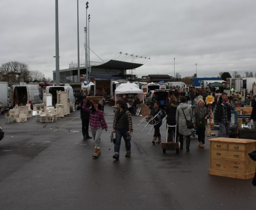
[[[164,111],[159,108],[159,105],[160,103],[158,101],[155,101],[154,108],[150,112],[150,114],[154,117],[157,115],[154,120],[158,122],[156,125],[154,125],[155,133],[152,140],[153,145],[155,145],[155,143],[161,143],[160,126],[162,124],[162,119],[166,115]]]

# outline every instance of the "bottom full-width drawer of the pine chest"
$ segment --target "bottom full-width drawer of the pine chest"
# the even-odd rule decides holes
[[[240,161],[211,159],[210,169],[219,170],[220,175],[221,175],[221,171],[246,173],[245,163]]]

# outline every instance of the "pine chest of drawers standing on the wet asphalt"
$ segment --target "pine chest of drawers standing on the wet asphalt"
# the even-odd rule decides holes
[[[248,153],[256,149],[256,141],[248,139],[210,139],[209,174],[250,179],[254,177],[255,163]]]

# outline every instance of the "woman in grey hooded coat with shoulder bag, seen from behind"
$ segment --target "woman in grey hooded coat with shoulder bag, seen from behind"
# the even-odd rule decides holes
[[[180,150],[183,150],[183,137],[186,137],[186,150],[189,152],[189,144],[190,144],[190,135],[193,132],[193,128],[187,128],[186,119],[192,119],[192,109],[188,103],[186,103],[187,99],[185,96],[180,97],[180,104],[176,111],[176,123],[179,127],[179,137],[180,137]],[[186,116],[184,116],[183,114]]]

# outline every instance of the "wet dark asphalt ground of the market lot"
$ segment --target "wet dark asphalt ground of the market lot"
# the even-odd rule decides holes
[[[132,156],[124,141],[115,161],[110,142],[114,108],[105,106],[109,130],[101,135],[101,152],[83,140],[80,113],[57,122],[6,123],[0,141],[0,209],[254,209],[256,187],[243,180],[208,174],[205,147],[191,139],[190,152],[153,146],[151,125],[133,116]],[[166,129],[161,130],[162,141]],[[217,134],[217,131],[212,131]]]

